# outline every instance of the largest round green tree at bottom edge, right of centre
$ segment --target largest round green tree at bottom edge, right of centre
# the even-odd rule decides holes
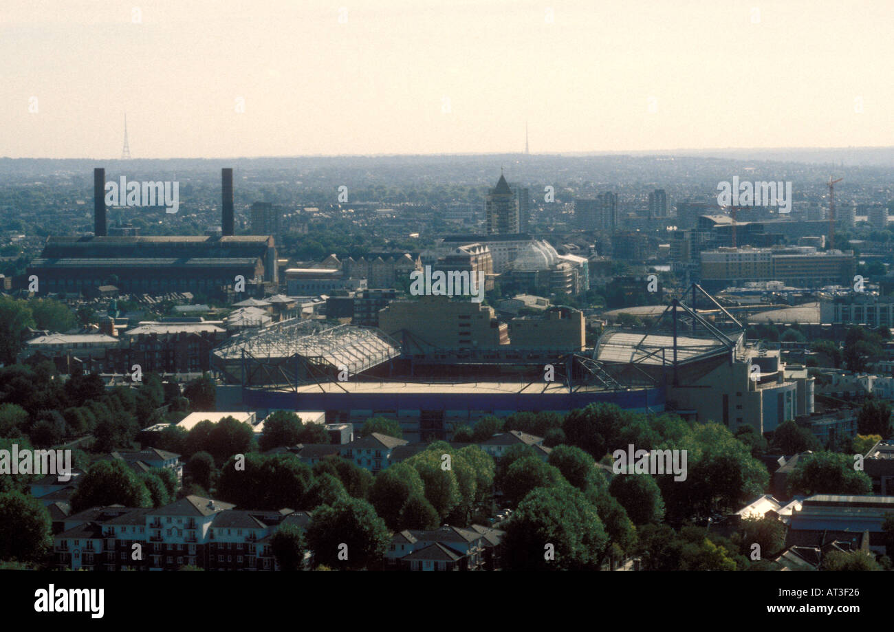
[[[507,570],[598,569],[608,542],[596,508],[567,484],[529,493],[505,529]]]

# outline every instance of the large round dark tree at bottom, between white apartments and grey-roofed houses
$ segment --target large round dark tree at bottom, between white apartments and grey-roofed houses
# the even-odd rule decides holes
[[[366,569],[377,564],[391,542],[384,520],[375,515],[372,505],[357,498],[320,506],[307,536],[314,561],[338,569]]]

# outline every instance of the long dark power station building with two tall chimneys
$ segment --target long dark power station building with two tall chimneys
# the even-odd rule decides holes
[[[113,284],[131,293],[214,292],[237,277],[278,282],[274,237],[233,235],[232,169],[223,169],[222,234],[108,236],[105,170],[94,170],[94,236],[49,237],[28,268],[41,292],[92,291]]]

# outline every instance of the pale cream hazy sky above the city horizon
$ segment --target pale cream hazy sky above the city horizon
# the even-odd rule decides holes
[[[133,157],[520,152],[526,121],[532,153],[891,146],[892,24],[891,0],[2,0],[0,156],[120,157],[125,111]]]

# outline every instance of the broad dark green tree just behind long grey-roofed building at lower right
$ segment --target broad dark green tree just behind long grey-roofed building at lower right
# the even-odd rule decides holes
[[[789,474],[788,487],[792,495],[861,495],[873,491],[873,482],[864,472],[854,469],[854,459],[847,454],[816,452],[797,460]]]

